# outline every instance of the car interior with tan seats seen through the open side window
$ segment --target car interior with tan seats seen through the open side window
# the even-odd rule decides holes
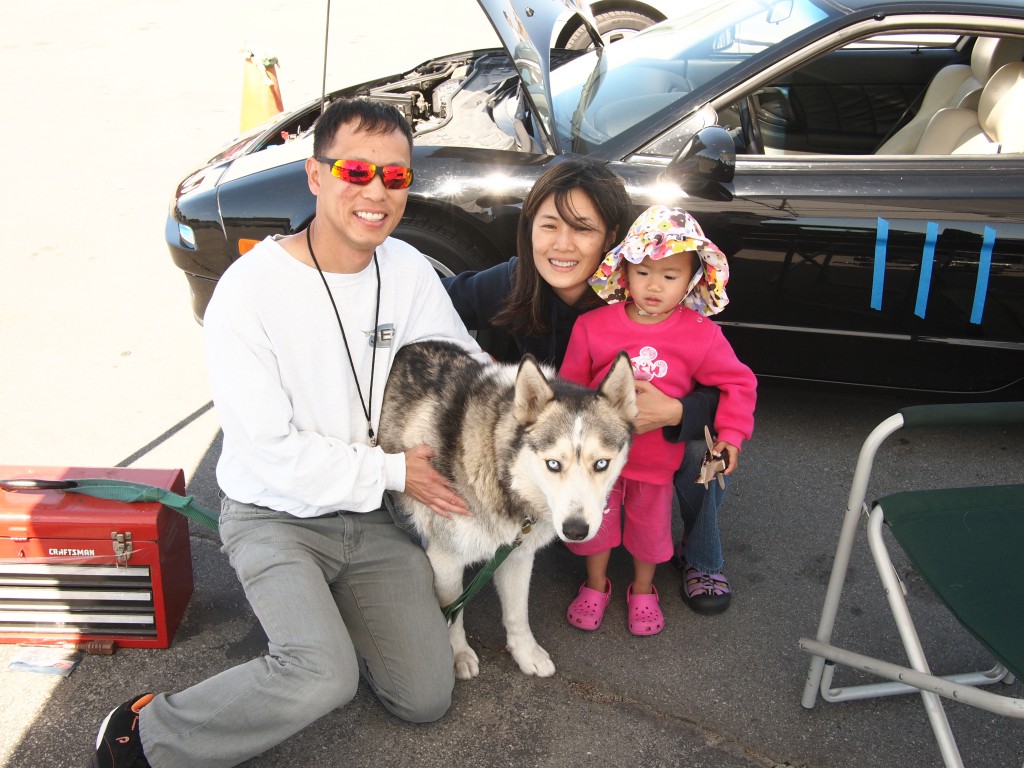
[[[1024,39],[848,45],[723,110],[739,152],[954,155],[1024,152]]]

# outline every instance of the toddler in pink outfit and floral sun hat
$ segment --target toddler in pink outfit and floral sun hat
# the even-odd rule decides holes
[[[715,452],[727,460],[725,474],[735,471],[742,441],[753,432],[757,397],[754,374],[708,319],[728,303],[728,270],[725,254],[690,214],[680,208],[648,208],[591,278],[591,286],[609,305],[575,322],[559,372],[570,381],[596,386],[625,349],[634,376],[672,397],[687,394],[697,383],[717,387]],[[587,580],[568,608],[573,627],[596,630],[601,625],[611,599],[608,560],[620,544],[633,556],[633,583],[626,590],[630,632],[654,635],[665,627],[653,581],[657,563],[673,555],[673,473],[684,450],[684,443],[666,440],[660,429],[634,438],[597,536],[568,545],[587,562]]]

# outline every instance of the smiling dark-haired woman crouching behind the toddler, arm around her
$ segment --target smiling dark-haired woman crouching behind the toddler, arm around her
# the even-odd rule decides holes
[[[515,362],[527,352],[559,368],[572,326],[583,312],[603,306],[587,280],[634,219],[626,186],[606,166],[586,159],[556,162],[522,204],[518,256],[444,281],[449,296],[480,346],[497,359]],[[703,428],[714,422],[718,392],[697,389],[681,399],[637,382],[637,433],[662,428],[666,439],[687,441],[675,487],[684,542],[676,564],[683,569],[683,600],[700,613],[729,605],[722,574],[718,507],[724,490],[693,480],[705,454]]]

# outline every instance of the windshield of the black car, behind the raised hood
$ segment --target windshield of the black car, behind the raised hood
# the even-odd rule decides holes
[[[591,153],[839,11],[812,0],[723,0],[551,73],[559,143]]]

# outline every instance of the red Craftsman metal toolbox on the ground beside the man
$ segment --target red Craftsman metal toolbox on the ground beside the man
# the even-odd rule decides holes
[[[89,477],[184,494],[180,469],[0,465],[0,480]],[[163,504],[0,490],[0,642],[166,648],[191,593],[188,520]]]

